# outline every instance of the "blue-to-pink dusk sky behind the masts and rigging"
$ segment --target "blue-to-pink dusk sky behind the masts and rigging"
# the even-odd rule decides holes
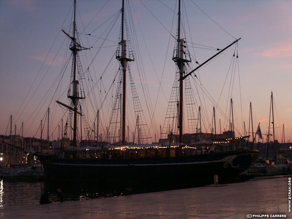
[[[128,1],[126,2],[126,11],[128,11]],[[150,111],[154,112],[155,123],[153,121],[151,123],[149,117],[152,118],[152,114],[147,109],[143,109],[146,123],[151,126],[149,129],[154,141],[154,133],[159,135],[157,130],[164,123],[175,77],[175,63],[172,61],[175,40],[170,33],[173,36],[176,35],[178,3],[175,0],[130,0],[129,4],[136,32],[134,36],[137,38],[132,39],[131,46],[139,48],[138,54],[135,54],[135,62],[131,63],[131,74],[141,105],[152,108]],[[45,120],[46,109],[50,107],[51,117],[58,117],[56,120],[51,119],[51,138],[58,138],[58,124],[65,110],[58,109],[61,107],[55,103],[55,100],[60,99],[66,104],[69,103],[66,87],[70,84],[71,69],[71,64],[69,64],[65,71],[69,72],[66,73],[68,75],[64,74],[64,78],[60,80],[62,66],[70,55],[67,36],[61,29],[69,32],[72,6],[73,0],[0,1],[0,134],[10,134],[9,119],[12,115],[13,133],[16,125],[16,133],[21,135],[20,127],[23,122],[25,137],[39,137],[40,121]],[[115,51],[119,40],[121,18],[118,15],[117,20],[115,19],[120,8],[121,1],[117,0],[77,1],[77,27],[81,36],[80,41],[84,47],[93,47],[90,51],[84,51],[86,55],[81,58],[84,64],[85,80],[91,81],[95,89],[95,93],[91,91],[91,88],[86,88],[85,92],[86,96],[95,95],[95,100],[86,100],[88,101],[86,118],[90,124],[94,122],[96,108],[100,107],[105,93],[112,92],[109,88],[118,68]],[[199,64],[217,52],[206,48],[222,49],[235,39],[241,38],[238,47],[231,46],[223,55],[200,69],[199,72],[193,73],[200,79],[197,85],[204,87],[204,91],[198,91],[198,93],[205,95],[201,97],[201,101],[203,99],[206,101],[203,101],[206,124],[212,123],[213,106],[217,108],[217,102],[222,112],[227,111],[228,114],[227,105],[232,98],[234,120],[236,120],[234,125],[238,126],[239,132],[244,133],[243,122],[248,129],[251,102],[254,132],[260,123],[261,132],[267,134],[270,98],[273,92],[275,139],[279,142],[284,141],[282,137],[284,124],[285,142],[292,141],[291,12],[292,1],[290,0],[183,1],[182,17],[187,45]],[[131,19],[128,20],[129,26]],[[108,26],[113,28],[107,36]],[[107,40],[103,41],[105,38]],[[203,46],[197,44],[209,47],[202,49]],[[232,71],[230,69],[235,65],[232,61],[234,51],[235,56],[238,53],[238,60],[234,76],[230,76]],[[191,64],[193,68],[196,67],[194,55],[192,55]],[[110,62],[112,67],[107,67],[113,56]],[[92,58],[94,58],[93,63],[91,63]],[[139,67],[140,71],[135,70],[136,65],[142,66]],[[86,71],[87,68],[90,70]],[[103,73],[105,70],[107,72]],[[143,78],[140,78],[139,74],[143,75]],[[60,87],[55,93],[58,84]],[[145,86],[143,89],[141,84]],[[149,103],[146,106],[145,98],[142,98],[145,88],[149,92],[151,106]],[[128,92],[127,96],[130,96],[130,87]],[[209,101],[209,96],[213,98],[212,102]],[[196,97],[196,100],[198,99]],[[199,104],[196,103],[196,105],[198,107]],[[110,103],[105,101],[100,109],[101,113],[107,112],[107,115],[103,115],[100,120],[103,130],[107,126],[105,123],[106,118],[109,117],[109,106]],[[91,110],[90,107],[96,108]],[[131,114],[129,109],[128,114]],[[228,129],[227,122],[224,121],[219,110],[216,114],[218,120],[221,120],[221,129]],[[130,118],[128,115],[128,121],[134,124],[135,118]],[[206,125],[205,130],[202,131],[210,132],[210,127],[208,127]],[[46,129],[44,132],[46,138]],[[266,141],[266,135],[263,137]]]

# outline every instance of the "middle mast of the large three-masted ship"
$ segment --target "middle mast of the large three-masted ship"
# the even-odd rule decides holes
[[[122,3],[122,29],[121,29],[121,56],[117,56],[117,60],[121,62],[123,67],[123,102],[122,102],[122,145],[126,145],[126,72],[127,72],[127,61],[134,61],[133,59],[127,58],[127,40],[124,40],[124,0]]]

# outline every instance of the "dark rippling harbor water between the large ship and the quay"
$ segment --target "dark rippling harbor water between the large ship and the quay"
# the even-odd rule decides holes
[[[187,188],[184,185],[139,185],[96,184],[96,183],[52,183],[21,179],[0,178],[0,208],[8,206],[39,205],[41,195],[50,193],[50,199],[57,195],[57,188],[61,187],[64,201],[79,201],[105,197],[124,196]],[[195,187],[195,186],[193,186]]]

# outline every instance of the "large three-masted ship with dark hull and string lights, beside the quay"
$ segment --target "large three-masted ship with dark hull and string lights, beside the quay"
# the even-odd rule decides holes
[[[74,1],[76,4],[76,1]],[[73,36],[63,31],[70,39],[72,46],[70,50],[73,55],[73,77],[72,93],[68,93],[74,112],[73,125],[73,150],[59,150],[54,154],[41,152],[33,153],[44,166],[47,180],[80,180],[96,181],[100,183],[180,183],[189,185],[206,185],[213,182],[213,176],[219,176],[220,183],[234,182],[239,173],[250,168],[256,161],[258,150],[217,150],[215,142],[192,142],[186,144],[183,138],[183,80],[194,72],[185,74],[185,63],[189,60],[184,58],[184,39],[180,37],[180,3],[178,12],[178,35],[177,55],[173,58],[179,68],[180,91],[179,91],[179,140],[178,143],[171,142],[153,145],[126,145],[126,69],[127,63],[134,59],[127,56],[127,41],[124,39],[124,1],[121,9],[121,55],[117,59],[121,63],[123,77],[123,93],[121,95],[121,145],[103,145],[95,149],[87,150],[78,147],[77,144],[77,114],[78,102],[84,97],[79,97],[79,81],[77,74],[77,53],[84,49],[78,42],[76,23],[74,20]],[[76,12],[74,11],[74,18]],[[238,41],[238,40],[237,40]],[[236,43],[234,41],[232,44]],[[230,44],[229,46],[231,46]],[[225,49],[227,49],[227,46]],[[220,52],[224,51],[221,50]],[[219,52],[219,53],[220,53]],[[204,62],[203,64],[205,64]],[[202,64],[202,65],[203,65]],[[200,65],[200,66],[202,66]],[[185,74],[185,75],[184,75]],[[138,120],[138,119],[137,119]],[[138,128],[139,131],[139,128]],[[139,134],[138,134],[139,135]],[[242,138],[242,137],[241,137]],[[228,142],[237,141],[232,136]],[[214,150],[211,150],[213,148]]]

